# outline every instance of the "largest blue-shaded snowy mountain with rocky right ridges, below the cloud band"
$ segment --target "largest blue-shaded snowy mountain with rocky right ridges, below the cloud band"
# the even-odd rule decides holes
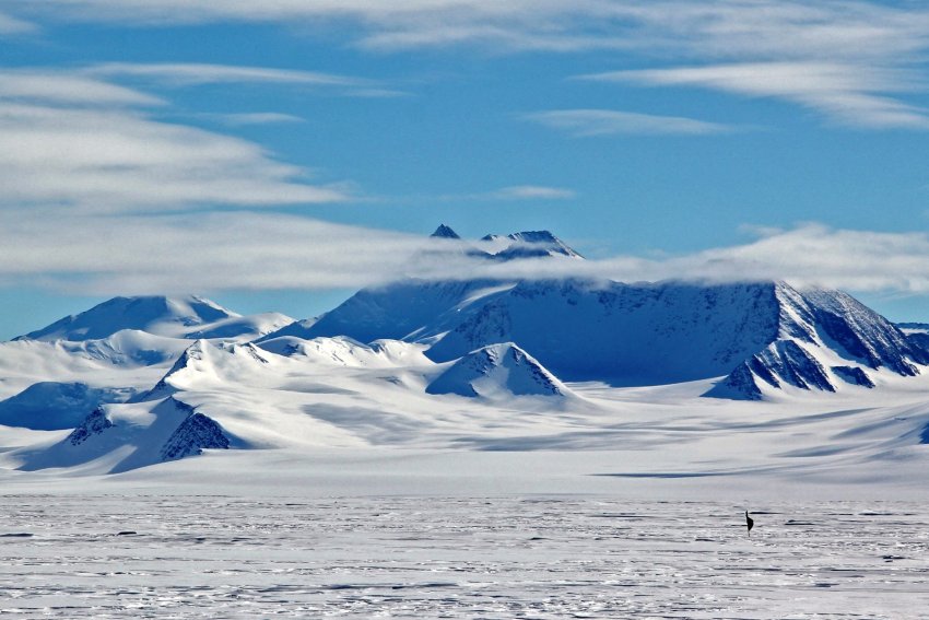
[[[784,282],[626,284],[405,281],[360,291],[307,337],[430,343],[436,362],[515,342],[563,381],[663,385],[726,376],[712,396],[762,386],[834,391],[872,371],[913,375],[929,354],[839,291]]]

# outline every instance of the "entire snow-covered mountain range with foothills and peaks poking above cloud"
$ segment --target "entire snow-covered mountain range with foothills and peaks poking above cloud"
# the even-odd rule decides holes
[[[445,225],[433,236],[465,243]],[[546,231],[466,251],[584,260]],[[116,297],[0,343],[14,437],[2,465],[118,472],[227,448],[461,446],[618,412],[649,387],[699,407],[862,398],[920,376],[927,346],[922,324],[779,281],[407,279],[301,320]],[[465,420],[483,422],[471,436]]]

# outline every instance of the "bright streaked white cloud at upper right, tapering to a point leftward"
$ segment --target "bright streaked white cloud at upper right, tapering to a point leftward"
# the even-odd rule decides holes
[[[748,62],[585,75],[602,82],[698,86],[798,103],[847,125],[929,129],[929,110],[886,96],[919,83],[908,72],[851,63]]]

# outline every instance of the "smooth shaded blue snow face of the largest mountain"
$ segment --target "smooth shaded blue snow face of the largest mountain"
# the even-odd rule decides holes
[[[777,332],[773,285],[526,281],[428,351],[436,361],[511,341],[564,381],[659,385],[719,376]]]

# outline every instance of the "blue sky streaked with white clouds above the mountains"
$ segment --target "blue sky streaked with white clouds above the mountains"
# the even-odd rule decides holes
[[[929,7],[0,0],[0,338],[118,294],[318,315],[550,230],[929,320]],[[435,255],[427,255],[435,256]]]

